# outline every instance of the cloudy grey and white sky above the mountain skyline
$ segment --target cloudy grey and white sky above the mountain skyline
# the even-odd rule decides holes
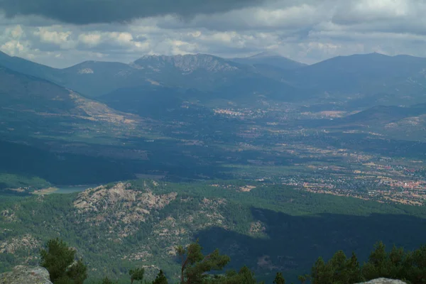
[[[263,51],[307,64],[426,57],[425,15],[424,0],[0,0],[0,50],[53,67]]]

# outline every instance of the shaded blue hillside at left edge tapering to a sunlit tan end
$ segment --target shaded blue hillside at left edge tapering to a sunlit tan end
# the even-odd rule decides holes
[[[30,75],[0,67],[2,136],[75,135],[103,126],[124,129],[126,114]]]

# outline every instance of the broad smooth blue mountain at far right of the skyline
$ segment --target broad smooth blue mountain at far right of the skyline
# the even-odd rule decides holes
[[[295,70],[287,79],[299,86],[344,94],[415,94],[426,87],[426,58],[379,53],[338,56]]]

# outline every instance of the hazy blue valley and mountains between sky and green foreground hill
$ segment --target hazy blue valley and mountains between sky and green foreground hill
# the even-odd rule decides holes
[[[373,53],[297,65],[277,56],[54,69],[3,55],[4,175],[43,186],[265,180],[422,204],[426,60]],[[45,166],[31,162],[35,153]]]

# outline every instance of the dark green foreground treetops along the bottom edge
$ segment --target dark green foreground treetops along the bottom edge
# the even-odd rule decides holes
[[[127,283],[145,284],[256,284],[256,274],[247,266],[239,271],[225,270],[231,261],[229,256],[221,254],[219,249],[204,255],[199,241],[187,247],[177,246],[176,261],[180,265],[180,280],[170,279],[163,270],[159,270],[155,279],[148,280],[144,268],[129,270]],[[50,273],[54,284],[82,284],[87,279],[87,266],[82,258],[75,257],[72,249],[60,239],[51,239],[40,251],[40,265]],[[426,246],[414,251],[405,251],[393,246],[386,251],[383,242],[378,242],[371,251],[368,261],[360,265],[354,252],[348,258],[343,251],[337,251],[327,262],[318,258],[311,272],[299,275],[298,280],[304,284],[354,284],[376,278],[403,280],[408,284],[426,283]],[[126,283],[126,280],[121,282]],[[117,280],[108,277],[92,280],[92,283],[114,284]],[[265,284],[264,281],[261,283]],[[285,284],[283,273],[277,272],[273,284]]]

